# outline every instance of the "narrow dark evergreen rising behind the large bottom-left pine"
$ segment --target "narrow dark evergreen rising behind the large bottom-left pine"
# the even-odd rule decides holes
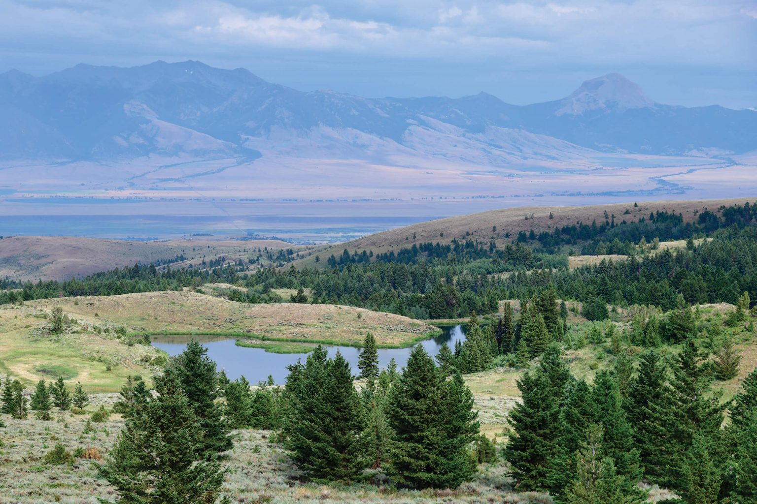
[[[173,366],[182,390],[200,418],[208,459],[212,453],[230,450],[233,443],[229,426],[223,419],[221,405],[215,402],[220,395],[216,363],[207,357],[207,348],[195,340],[189,342],[185,351],[173,360]]]

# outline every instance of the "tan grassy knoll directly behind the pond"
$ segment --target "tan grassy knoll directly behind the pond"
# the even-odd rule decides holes
[[[33,302],[46,309],[61,306],[66,313],[81,320],[107,321],[129,332],[243,333],[268,339],[346,345],[358,345],[372,332],[378,345],[400,346],[435,331],[434,326],[419,320],[363,308],[293,303],[250,305],[189,291]]]

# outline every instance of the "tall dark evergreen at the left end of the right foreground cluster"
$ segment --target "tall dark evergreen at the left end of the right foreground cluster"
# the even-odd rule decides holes
[[[559,460],[559,422],[565,385],[570,372],[562,362],[559,349],[544,352],[534,373],[518,381],[522,403],[512,409],[509,423],[514,434],[505,450],[512,478],[519,490],[550,489],[553,464]]]

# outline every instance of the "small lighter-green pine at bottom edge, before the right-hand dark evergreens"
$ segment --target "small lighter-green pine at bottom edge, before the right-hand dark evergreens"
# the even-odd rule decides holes
[[[612,458],[603,450],[600,425],[587,429],[587,441],[576,453],[575,481],[565,492],[568,504],[641,504],[646,496],[621,475],[616,474]]]

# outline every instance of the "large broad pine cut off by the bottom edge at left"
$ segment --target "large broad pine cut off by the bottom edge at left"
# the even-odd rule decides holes
[[[155,379],[150,397],[118,436],[100,475],[116,487],[117,502],[215,502],[225,471],[207,460],[201,420],[174,369]],[[101,499],[101,502],[107,502]]]

